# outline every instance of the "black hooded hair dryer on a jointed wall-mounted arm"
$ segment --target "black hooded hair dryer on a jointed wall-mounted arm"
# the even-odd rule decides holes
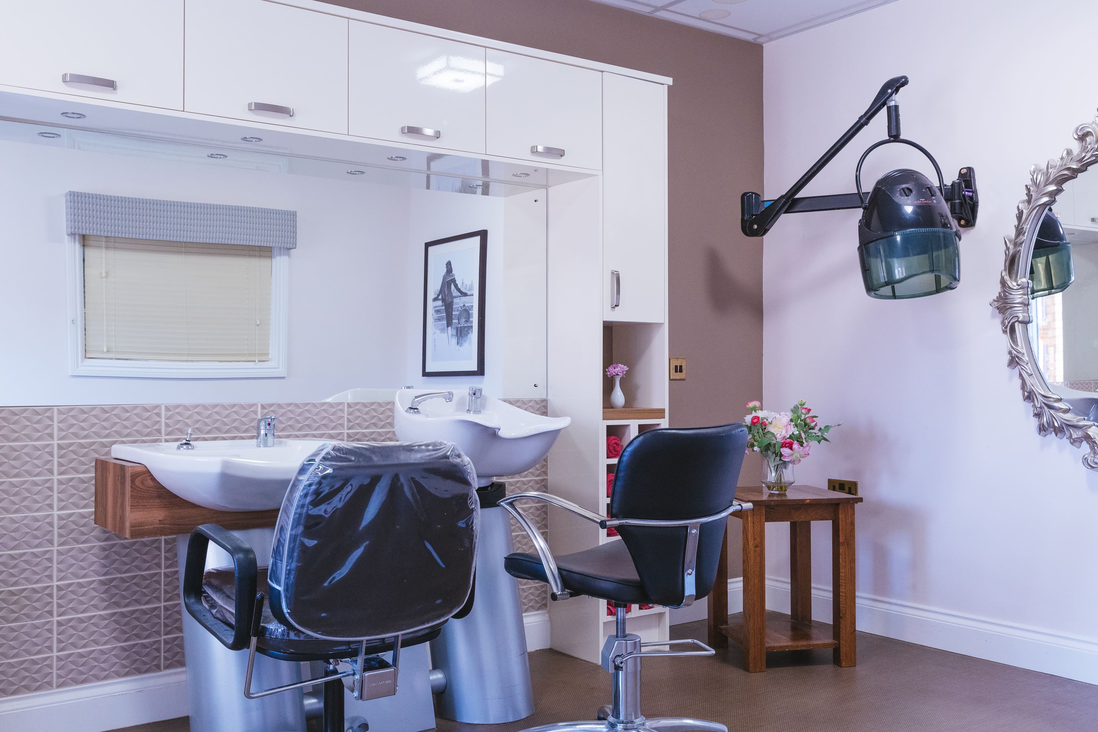
[[[763,201],[758,193],[740,196],[740,229],[747,236],[763,236],[786,213],[861,209],[858,223],[858,256],[865,293],[878,300],[906,300],[953,290],[961,280],[961,228],[976,224],[979,196],[972,167],[961,168],[957,179],[945,185],[938,161],[921,145],[900,137],[896,94],[908,78],[898,76],[881,87],[870,108],[843,133],[793,187]],[[807,185],[881,110],[888,108],[888,137],[862,154],[854,170],[856,193],[794,198]],[[922,173],[900,169],[882,176],[866,200],[862,192],[865,157],[890,143],[916,148],[930,159],[938,174],[934,185]],[[956,223],[954,224],[954,219]]]

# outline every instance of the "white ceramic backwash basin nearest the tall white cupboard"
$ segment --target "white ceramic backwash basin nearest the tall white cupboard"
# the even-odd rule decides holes
[[[419,414],[407,407],[417,394],[445,388],[402,388],[393,402],[396,439],[406,442],[453,442],[477,469],[477,481],[485,486],[495,477],[518,475],[541,462],[571,417],[541,417],[516,406],[483,397],[481,414],[469,414],[468,390],[453,388],[452,402],[440,398],[419,404]]]

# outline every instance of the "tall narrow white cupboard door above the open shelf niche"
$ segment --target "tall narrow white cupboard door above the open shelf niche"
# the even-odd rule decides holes
[[[663,322],[665,102],[663,85],[603,75],[604,320]],[[613,297],[618,283],[619,304],[615,307]]]

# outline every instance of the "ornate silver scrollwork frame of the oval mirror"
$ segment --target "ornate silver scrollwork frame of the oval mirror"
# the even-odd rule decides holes
[[[991,307],[999,311],[1002,319],[1002,333],[1009,341],[1007,365],[1018,369],[1022,398],[1033,406],[1038,431],[1067,438],[1077,448],[1086,442],[1090,452],[1084,455],[1083,464],[1098,470],[1098,426],[1073,413],[1071,405],[1049,387],[1037,365],[1028,328],[1030,255],[1037,228],[1044,212],[1063,192],[1064,183],[1098,161],[1098,117],[1076,127],[1074,137],[1079,143],[1077,153],[1065,149],[1058,159],[1049,160],[1044,168],[1030,168],[1030,182],[1026,187],[1026,199],[1018,204],[1013,236],[1006,237],[1006,263],[999,278],[999,294],[991,301]]]

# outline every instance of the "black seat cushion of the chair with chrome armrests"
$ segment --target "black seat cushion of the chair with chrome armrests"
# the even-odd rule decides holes
[[[554,556],[564,589],[614,603],[652,603],[637,575],[637,567],[624,541],[609,541],[594,549]],[[508,554],[504,568],[520,579],[549,582],[537,554]]]

